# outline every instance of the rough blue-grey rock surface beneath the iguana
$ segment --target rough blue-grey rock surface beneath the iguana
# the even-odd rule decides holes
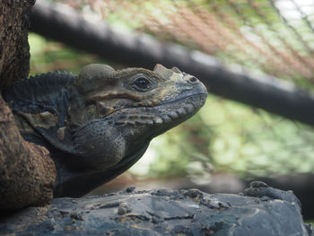
[[[255,197],[251,197],[255,196]],[[253,183],[243,195],[134,188],[55,198],[0,219],[1,235],[313,235],[292,191]]]

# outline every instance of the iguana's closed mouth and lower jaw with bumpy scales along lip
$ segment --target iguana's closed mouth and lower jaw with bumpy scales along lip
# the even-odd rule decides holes
[[[173,127],[192,117],[205,104],[206,97],[207,94],[198,93],[158,106],[120,109],[115,112],[118,116],[114,124],[117,127],[126,125],[139,127],[164,126],[169,123]]]

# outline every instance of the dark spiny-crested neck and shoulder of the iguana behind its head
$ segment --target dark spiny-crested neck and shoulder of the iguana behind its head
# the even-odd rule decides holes
[[[39,74],[4,91],[4,100],[13,110],[15,122],[24,139],[65,149],[61,143],[56,146],[50,141],[57,143],[57,131],[66,125],[69,102],[74,97],[72,84],[76,77],[58,71]]]

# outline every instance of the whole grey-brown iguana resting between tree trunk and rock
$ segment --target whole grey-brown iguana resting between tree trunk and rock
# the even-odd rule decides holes
[[[127,170],[206,96],[196,77],[161,65],[116,71],[92,64],[79,75],[39,74],[4,92],[23,138],[47,147],[56,164],[55,197],[81,197]]]

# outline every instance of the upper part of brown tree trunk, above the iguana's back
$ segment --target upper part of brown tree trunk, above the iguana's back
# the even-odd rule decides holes
[[[26,78],[30,69],[27,40],[34,0],[0,0],[0,88]]]

